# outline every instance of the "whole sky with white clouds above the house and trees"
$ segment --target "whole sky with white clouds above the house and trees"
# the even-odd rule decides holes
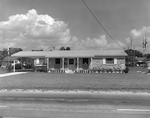
[[[84,0],[109,34],[124,48],[150,52],[150,0]],[[0,0],[0,49],[53,47],[122,49],[82,0]]]

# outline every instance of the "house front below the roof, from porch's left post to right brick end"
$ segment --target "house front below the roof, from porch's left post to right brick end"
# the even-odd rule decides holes
[[[105,58],[47,58],[48,73],[123,73],[124,70],[122,59],[110,62]]]

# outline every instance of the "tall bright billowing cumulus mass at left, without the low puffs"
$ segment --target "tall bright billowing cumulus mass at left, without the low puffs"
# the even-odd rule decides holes
[[[0,40],[25,50],[56,46],[70,41],[68,24],[57,21],[49,15],[39,15],[32,9],[27,14],[10,16],[8,21],[0,22]]]

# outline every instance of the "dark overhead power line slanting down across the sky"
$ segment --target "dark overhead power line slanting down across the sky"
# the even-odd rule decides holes
[[[92,12],[92,10],[88,7],[88,5],[84,2],[84,0],[82,0],[82,2],[84,3],[84,5],[88,8],[88,10],[91,12],[91,14],[93,15],[93,17],[96,19],[96,21],[98,22],[98,24],[103,28],[103,30],[108,34],[108,36],[115,41],[120,47],[122,47],[123,49],[125,49],[125,47],[123,47],[122,45],[120,45],[110,34],[109,32],[104,28],[104,26],[100,23],[100,21],[97,19],[97,17],[94,15],[94,13]]]

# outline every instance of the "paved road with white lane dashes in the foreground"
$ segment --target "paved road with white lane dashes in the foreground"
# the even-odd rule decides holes
[[[4,95],[3,95],[4,96]],[[137,97],[137,96],[136,96]],[[102,97],[103,98],[103,97]],[[0,116],[13,118],[149,118],[150,99],[0,97]],[[143,98],[143,99],[142,99]]]

